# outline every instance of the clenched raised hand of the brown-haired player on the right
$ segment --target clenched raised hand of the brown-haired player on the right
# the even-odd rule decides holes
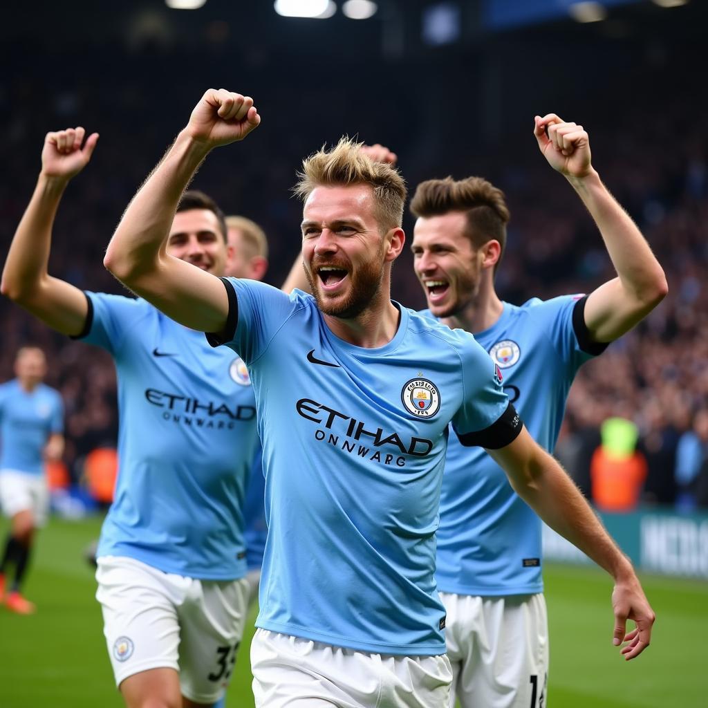
[[[554,170],[566,177],[587,177],[590,161],[590,138],[582,125],[566,123],[555,113],[534,118],[534,135],[538,147]]]

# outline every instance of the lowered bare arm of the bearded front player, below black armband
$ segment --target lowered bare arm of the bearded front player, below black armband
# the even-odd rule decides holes
[[[649,646],[653,610],[629,559],[612,541],[569,476],[525,428],[510,445],[487,452],[505,470],[514,491],[545,523],[615,579],[613,643],[627,641],[622,648],[624,658],[638,656]],[[629,634],[627,619],[636,623],[636,629]]]

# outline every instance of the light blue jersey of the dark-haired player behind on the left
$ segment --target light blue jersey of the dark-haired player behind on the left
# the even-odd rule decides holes
[[[244,363],[143,299],[87,293],[84,341],[118,372],[118,481],[98,556],[166,573],[246,573],[244,497],[256,408]]]

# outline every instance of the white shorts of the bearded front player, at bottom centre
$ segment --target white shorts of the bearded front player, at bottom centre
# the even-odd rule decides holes
[[[251,641],[258,708],[447,708],[447,656],[370,654],[257,629]]]

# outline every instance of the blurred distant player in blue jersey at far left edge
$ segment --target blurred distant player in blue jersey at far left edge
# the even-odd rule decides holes
[[[16,355],[16,378],[0,384],[0,508],[11,519],[0,561],[0,602],[19,615],[35,611],[20,587],[35,531],[49,510],[45,461],[64,452],[64,404],[59,392],[42,383],[46,374],[45,353],[27,346]],[[11,565],[15,574],[6,588]]]

